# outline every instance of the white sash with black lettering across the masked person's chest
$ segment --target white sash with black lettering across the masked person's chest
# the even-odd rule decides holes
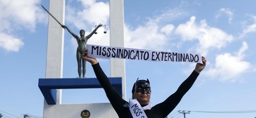
[[[136,99],[129,100],[129,109],[133,118],[148,118]]]

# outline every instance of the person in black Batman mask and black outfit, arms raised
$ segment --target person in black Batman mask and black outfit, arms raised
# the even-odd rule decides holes
[[[112,104],[115,109],[117,115],[120,118],[132,118],[133,115],[129,109],[129,102],[123,100],[121,96],[116,92],[116,90],[112,87],[108,77],[105,75],[102,68],[100,68],[100,64],[96,60],[96,58],[92,58],[87,56],[87,50],[83,52],[82,58],[87,60],[93,66],[93,70],[95,71],[96,78],[98,79],[102,88],[106,92],[106,96],[108,100],[110,100],[110,104]],[[173,111],[173,109],[179,104],[182,96],[186,94],[186,92],[192,87],[199,73],[205,68],[206,60],[202,56],[203,64],[196,64],[196,68],[190,76],[180,85],[177,91],[171,96],[169,96],[166,100],[157,104],[156,106],[152,106],[150,102],[150,82],[147,80],[139,80],[133,86],[133,99],[137,99],[140,106],[143,108],[146,117],[148,118],[164,118]]]

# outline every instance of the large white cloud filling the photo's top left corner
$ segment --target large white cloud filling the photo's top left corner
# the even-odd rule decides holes
[[[1,16],[0,21],[10,24],[2,30],[15,30],[17,25],[29,30],[35,30],[37,21],[43,21],[42,10],[37,7],[39,0],[3,0],[0,1]]]

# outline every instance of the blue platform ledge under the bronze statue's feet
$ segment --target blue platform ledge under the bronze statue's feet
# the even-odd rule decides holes
[[[110,83],[122,96],[121,77],[109,77]],[[40,88],[47,104],[56,104],[56,89],[71,88],[102,88],[96,78],[61,78],[61,79],[39,79],[38,87]]]

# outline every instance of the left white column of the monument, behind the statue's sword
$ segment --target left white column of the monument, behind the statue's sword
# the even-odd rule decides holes
[[[65,1],[49,1],[49,12],[61,23],[64,23]],[[63,73],[64,29],[49,15],[47,62],[45,78],[62,78]],[[57,90],[56,104],[61,104],[62,90]],[[44,116],[50,106],[44,102]]]

